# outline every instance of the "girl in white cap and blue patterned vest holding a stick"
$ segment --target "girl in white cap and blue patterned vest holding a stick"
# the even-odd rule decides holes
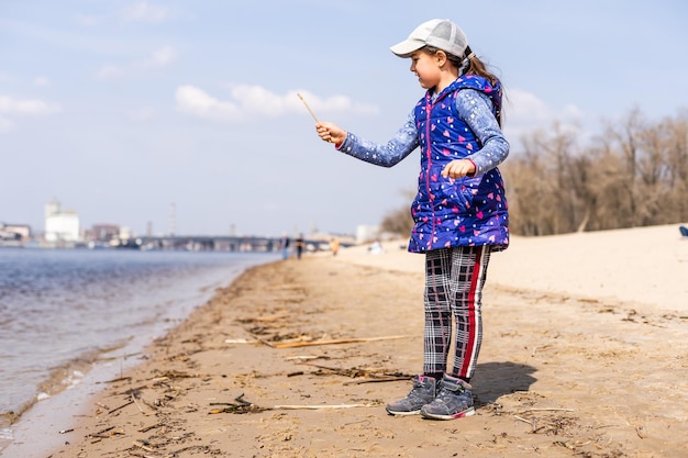
[[[469,382],[482,340],[490,255],[509,245],[504,185],[497,168],[509,154],[501,131],[501,83],[448,20],[424,22],[391,51],[411,59],[410,70],[428,90],[395,137],[377,144],[329,122],[317,122],[315,130],[337,150],[382,167],[420,147],[408,249],[425,255],[423,372],[406,398],[387,404],[387,412],[458,418],[475,413]]]

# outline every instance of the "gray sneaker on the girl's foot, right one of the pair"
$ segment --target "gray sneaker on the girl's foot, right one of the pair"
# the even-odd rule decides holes
[[[473,387],[463,380],[444,377],[440,392],[430,403],[421,407],[421,415],[433,420],[463,418],[476,413],[473,407]]]

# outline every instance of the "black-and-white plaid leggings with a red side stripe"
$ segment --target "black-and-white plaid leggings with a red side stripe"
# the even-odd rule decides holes
[[[470,379],[482,343],[482,286],[490,246],[434,249],[425,255],[423,371]],[[452,322],[456,323],[454,367],[447,368]]]

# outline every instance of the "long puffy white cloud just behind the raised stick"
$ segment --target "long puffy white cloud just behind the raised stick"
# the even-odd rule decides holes
[[[321,99],[308,91],[289,91],[280,96],[260,86],[235,86],[231,91],[231,100],[226,101],[193,86],[180,86],[175,98],[179,112],[215,121],[240,122],[259,116],[277,118],[287,113],[308,116],[308,110],[298,93],[303,96],[317,114],[333,111],[374,114],[378,111],[375,107],[355,103],[345,96]]]

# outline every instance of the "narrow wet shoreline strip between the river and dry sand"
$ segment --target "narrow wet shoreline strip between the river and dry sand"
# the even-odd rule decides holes
[[[258,256],[263,257],[262,254]],[[142,325],[136,333],[123,335],[107,347],[88,348],[52,367],[46,378],[37,384],[35,395],[0,418],[0,456],[40,456],[63,444],[55,432],[70,429],[74,418],[87,413],[87,400],[100,394],[108,380],[116,379],[123,371],[142,364],[145,349],[156,338],[171,332],[199,304],[210,300],[218,288],[233,281],[246,268],[278,258],[277,255],[265,259],[258,256],[237,259],[236,265],[222,268],[224,273],[211,272],[201,277],[195,273],[190,288],[171,290],[175,291],[173,299],[158,297],[154,292],[146,293],[144,300],[152,309],[162,304],[166,308],[155,325]],[[36,437],[41,437],[41,440],[36,440]]]

